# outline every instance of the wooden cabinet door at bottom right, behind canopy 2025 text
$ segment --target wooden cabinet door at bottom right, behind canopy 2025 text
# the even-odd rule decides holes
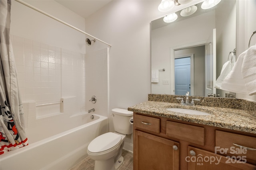
[[[188,147],[188,170],[256,170],[256,166],[235,160],[229,156],[222,156],[206,150]],[[240,160],[246,160],[241,158]]]

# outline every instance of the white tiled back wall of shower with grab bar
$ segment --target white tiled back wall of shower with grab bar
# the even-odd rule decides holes
[[[11,39],[28,133],[39,122],[56,121],[54,115],[64,119],[86,111],[84,54],[15,35]]]

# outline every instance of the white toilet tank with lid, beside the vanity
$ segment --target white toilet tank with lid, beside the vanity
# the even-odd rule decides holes
[[[133,125],[130,123],[130,118],[133,117],[133,112],[127,109],[115,108],[112,109],[114,129],[118,133],[132,134]]]

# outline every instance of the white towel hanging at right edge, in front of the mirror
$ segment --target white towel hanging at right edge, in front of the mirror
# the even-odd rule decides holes
[[[247,95],[256,94],[256,46],[239,55],[220,89]]]

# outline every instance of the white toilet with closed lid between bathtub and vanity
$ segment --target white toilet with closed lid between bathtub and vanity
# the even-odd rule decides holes
[[[95,160],[94,170],[118,170],[124,163],[122,149],[126,135],[133,132],[130,118],[132,111],[112,109],[115,132],[104,133],[93,139],[88,145],[87,153]]]

